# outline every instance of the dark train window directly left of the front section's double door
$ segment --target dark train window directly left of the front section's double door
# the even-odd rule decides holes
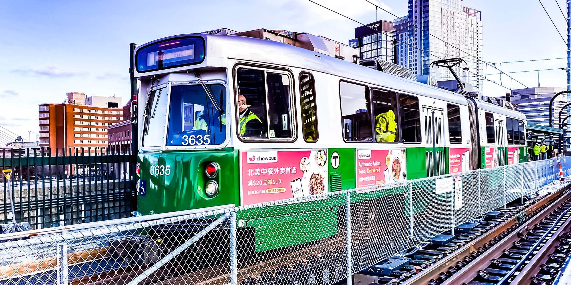
[[[399,103],[403,143],[420,143],[419,99],[415,96],[400,94]]]

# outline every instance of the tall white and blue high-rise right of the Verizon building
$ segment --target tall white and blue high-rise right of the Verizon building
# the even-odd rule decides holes
[[[466,64],[456,67],[456,74],[471,84],[473,91],[482,92],[483,82],[475,76],[483,74],[484,67],[477,60],[482,58],[481,12],[463,4],[463,0],[409,0],[408,15],[401,18],[422,30],[401,19],[393,21],[397,38],[412,46],[399,41],[396,62],[411,68],[415,75],[433,75],[441,81],[453,79],[452,74],[430,64],[439,58],[462,58]]]

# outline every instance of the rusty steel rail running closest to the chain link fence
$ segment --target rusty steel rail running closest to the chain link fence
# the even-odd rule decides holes
[[[561,193],[563,193],[566,189],[571,188],[571,184],[557,190],[549,196],[537,201],[532,206],[528,207],[525,210],[525,215],[531,215],[534,211],[539,209],[540,207],[546,205],[547,203],[556,199]],[[516,223],[518,220],[518,215],[514,215],[513,217],[509,218],[507,221],[501,223],[500,225],[490,229],[487,233],[482,234],[480,237],[476,238],[472,242],[468,243],[461,249],[453,252],[452,254],[448,255],[447,257],[439,260],[432,266],[429,266],[425,270],[419,272],[412,276],[410,279],[403,282],[402,285],[426,285],[430,282],[431,279],[439,278],[441,272],[446,272],[449,267],[455,266],[457,262],[464,259],[464,257],[470,255],[472,252],[477,252],[479,247],[484,247],[485,243],[489,243],[490,239],[493,239],[497,235],[503,233],[509,228],[516,227]],[[512,228],[513,229],[513,228]]]

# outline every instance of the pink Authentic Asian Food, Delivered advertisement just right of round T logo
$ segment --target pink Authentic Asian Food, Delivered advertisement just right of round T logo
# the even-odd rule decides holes
[[[357,188],[407,181],[407,150],[357,149]]]

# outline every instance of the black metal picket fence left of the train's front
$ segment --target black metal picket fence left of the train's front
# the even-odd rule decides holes
[[[132,153],[102,148],[0,149],[0,223],[11,222],[10,191],[17,222],[32,229],[130,217],[136,210]]]

